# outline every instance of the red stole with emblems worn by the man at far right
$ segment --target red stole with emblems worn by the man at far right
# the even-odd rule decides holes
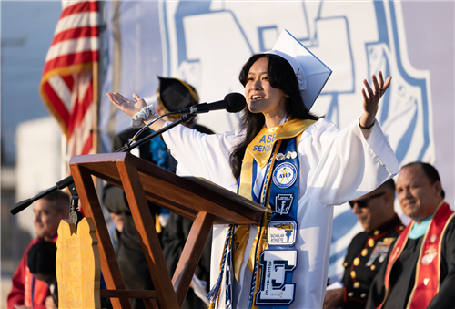
[[[430,304],[431,299],[439,292],[440,289],[440,248],[444,236],[444,232],[453,218],[454,213],[450,210],[447,203],[442,203],[435,211],[433,218],[430,221],[430,226],[423,236],[423,241],[420,246],[419,259],[416,265],[416,277],[414,287],[410,294],[410,299],[406,308],[426,308]],[[410,231],[414,225],[412,221],[406,229],[400,234],[391,254],[389,263],[386,268],[384,285],[386,295],[382,304],[383,306],[389,296],[389,277],[394,263],[399,259],[399,255],[408,242]]]

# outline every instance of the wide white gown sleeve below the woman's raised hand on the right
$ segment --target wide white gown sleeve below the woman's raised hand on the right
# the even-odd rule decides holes
[[[307,194],[314,200],[339,205],[375,190],[399,172],[395,153],[377,121],[368,139],[359,120],[340,130],[320,119],[308,129],[299,151],[308,156]]]

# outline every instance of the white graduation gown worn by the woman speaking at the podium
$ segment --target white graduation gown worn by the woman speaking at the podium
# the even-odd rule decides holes
[[[230,149],[238,133],[205,135],[177,126],[163,134],[167,147],[177,160],[178,175],[204,177],[231,191],[237,181],[229,166]],[[399,171],[398,161],[376,122],[365,139],[359,120],[348,128],[338,129],[327,119],[319,119],[306,129],[298,145],[300,178],[298,189],[298,268],[293,282],[296,296],[290,308],[321,308],[329,270],[333,205],[339,205],[375,190]],[[254,190],[258,192],[265,169],[258,170]],[[226,239],[227,225],[216,225],[213,231],[211,285],[216,282]],[[247,308],[251,282],[248,255],[257,227],[252,226],[240,280],[234,279],[233,308]],[[224,291],[221,303],[224,308]]]

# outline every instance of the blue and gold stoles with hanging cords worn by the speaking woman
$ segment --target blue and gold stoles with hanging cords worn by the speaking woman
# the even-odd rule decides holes
[[[314,122],[292,119],[278,127],[263,128],[245,152],[238,194],[274,211],[273,215],[265,212],[249,253],[248,268],[253,273],[248,304],[250,308],[253,304],[261,307],[263,305],[288,307],[293,302],[295,283],[291,283],[292,272],[297,267],[297,250],[293,250],[298,227],[297,148],[301,133]],[[265,177],[260,195],[257,197],[253,191],[254,182],[258,168],[265,167],[267,167]],[[226,306],[231,307],[231,271],[236,280],[239,280],[248,238],[247,225],[229,226],[218,281],[207,294],[207,298],[212,300],[211,308],[218,297],[225,267]],[[280,279],[279,276],[283,278]]]

